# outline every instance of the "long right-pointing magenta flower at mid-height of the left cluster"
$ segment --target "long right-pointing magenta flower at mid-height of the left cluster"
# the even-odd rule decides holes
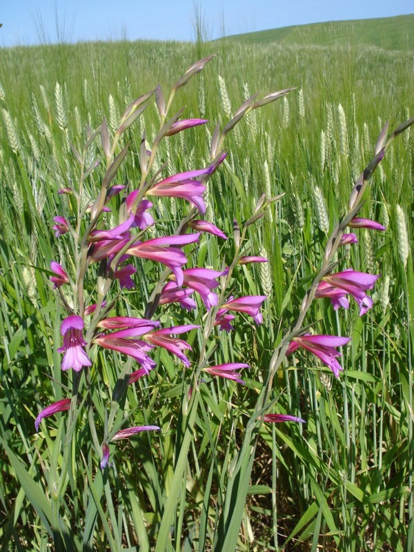
[[[148,242],[133,245],[126,253],[165,264],[174,273],[177,284],[182,286],[184,274],[181,266],[186,264],[188,259],[181,249],[168,246],[193,244],[194,242],[198,242],[198,240],[199,233],[157,237],[155,239],[148,239]]]

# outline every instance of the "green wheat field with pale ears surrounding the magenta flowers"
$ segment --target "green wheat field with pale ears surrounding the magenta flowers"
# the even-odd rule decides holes
[[[52,450],[62,420],[38,435],[33,422],[42,405],[61,399],[64,391],[54,345],[62,313],[48,283],[50,260],[59,260],[63,251],[50,227],[59,214],[57,190],[77,178],[75,165],[68,161],[70,144],[81,148],[85,128],[97,128],[106,117],[113,131],[130,101],[157,83],[168,88],[183,68],[213,50],[217,58],[202,78],[181,90],[177,103],[177,108],[186,103],[186,117],[201,112],[212,121],[211,135],[214,121],[225,124],[248,93],[297,87],[284,101],[253,112],[235,129],[226,144],[226,168],[208,190],[208,213],[215,214],[217,226],[228,235],[233,217],[246,219],[263,193],[285,195],[248,235],[252,254],[266,251],[270,263],[241,270],[237,280],[239,295],[270,293],[264,324],[257,329],[239,324],[233,335],[222,337],[213,354],[217,363],[244,359],[241,362],[255,369],[243,388],[214,382],[204,386],[201,404],[208,404],[209,410],[195,420],[197,449],[190,447],[177,489],[179,504],[173,505],[178,513],[168,527],[170,550],[201,551],[217,545],[217,522],[225,507],[223,484],[235,467],[246,414],[257,394],[255,382],[262,381],[282,321],[285,328],[293,324],[328,232],[371,159],[385,121],[395,126],[414,112],[412,50],[244,46],[231,41],[198,43],[197,49],[184,43],[125,42],[1,51],[3,550],[43,551],[49,546],[48,522],[30,503],[41,486],[52,488],[48,474],[60,465],[62,451],[52,460],[45,451]],[[158,124],[155,108],[148,108],[142,124],[128,135],[132,152],[139,152],[139,125],[153,137]],[[348,253],[348,264],[355,270],[382,273],[373,311],[362,320],[354,308],[338,317],[327,299],[312,307],[318,333],[353,337],[342,351],[344,375],[334,380],[300,354],[288,357],[277,374],[272,398],[277,398],[278,408],[301,415],[307,423],[304,428],[262,426],[239,533],[241,551],[315,551],[318,546],[403,551],[413,546],[412,132],[406,131],[387,152],[362,211],[362,216],[386,224],[386,234],[360,234],[362,247]],[[170,173],[205,166],[208,140],[202,136],[189,131],[168,141],[160,163]],[[126,159],[122,182],[139,180],[138,167],[136,155]],[[159,201],[157,210],[166,228],[172,228],[185,208],[168,200]],[[217,268],[219,254],[230,258],[229,248],[217,242],[201,246],[199,261]],[[130,293],[124,315],[135,309],[137,297]],[[66,483],[70,502],[62,515],[67,526],[82,526],[86,550],[108,549],[106,525],[124,535],[126,549],[156,546],[177,462],[170,428],[181,423],[186,400],[177,366],[164,353],[159,360],[163,372],[152,373],[128,392],[139,421],[155,416],[162,430],[162,439],[144,437],[137,445],[126,444],[122,466],[115,464],[118,477],[111,480],[112,492],[128,508],[117,515],[99,510],[96,497],[82,490],[85,480],[101,476],[85,473],[88,459],[73,451]],[[115,371],[106,357],[101,366],[108,386],[115,385]],[[105,397],[94,400],[101,408]],[[80,441],[86,438],[81,435]],[[38,484],[33,495],[19,486],[29,474]],[[98,483],[107,492],[108,482]],[[83,512],[84,523],[76,519],[77,512]],[[97,526],[94,516],[101,520]],[[68,546],[71,538],[67,535]]]

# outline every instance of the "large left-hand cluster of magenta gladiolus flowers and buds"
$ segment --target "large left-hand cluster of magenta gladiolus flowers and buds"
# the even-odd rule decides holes
[[[186,83],[187,79],[201,70],[209,59],[201,60],[192,66],[186,73],[187,76],[183,77],[184,80],[179,81],[176,86]],[[115,152],[119,137],[148,105],[145,102],[153,92],[137,99],[127,108],[121,117],[121,124],[115,132],[112,144],[106,122],[103,121],[100,135],[103,154],[106,158],[106,172],[101,179],[97,197],[92,201],[88,197],[88,203],[84,197],[83,181],[97,168],[99,161],[94,161],[89,168],[83,167],[83,159],[86,157],[85,153],[90,146],[91,139],[88,140],[83,155],[73,148],[75,157],[81,165],[80,183],[79,186],[73,185],[73,187],[59,190],[59,193],[68,195],[70,201],[77,202],[77,208],[72,212],[78,213],[78,219],[74,220],[73,216],[65,217],[59,214],[54,218],[55,224],[52,226],[57,239],[70,238],[77,244],[77,250],[74,252],[70,266],[56,261],[52,261],[50,264],[52,272],[50,281],[58,290],[61,302],[68,311],[68,315],[61,323],[63,344],[57,348],[59,353],[63,353],[61,368],[63,371],[69,371],[72,368],[79,375],[84,370],[88,374],[86,380],[90,382],[91,377],[94,377],[95,374],[95,371],[90,368],[99,356],[97,354],[99,348],[116,351],[130,359],[130,362],[126,363],[124,371],[119,375],[119,381],[135,384],[141,377],[148,375],[156,368],[155,359],[159,355],[154,355],[154,352],[163,348],[177,357],[185,368],[191,369],[195,374],[196,384],[204,381],[201,379],[201,375],[205,374],[243,384],[240,371],[243,368],[249,368],[248,364],[233,362],[213,366],[204,357],[200,357],[197,362],[190,360],[188,353],[192,351],[192,346],[181,335],[197,330],[200,327],[199,324],[167,326],[164,323],[163,327],[159,320],[165,319],[165,317],[161,317],[161,314],[165,313],[172,304],[177,304],[187,311],[205,310],[207,316],[204,316],[206,324],[206,327],[203,328],[204,339],[208,339],[213,331],[232,331],[234,329],[232,323],[234,323],[237,313],[244,313],[252,317],[256,324],[262,324],[263,317],[260,309],[266,296],[233,297],[228,295],[227,288],[237,264],[263,263],[268,262],[268,259],[243,255],[243,239],[237,237],[235,239],[235,259],[231,266],[226,267],[223,264],[221,270],[213,270],[213,268],[204,266],[190,268],[187,266],[190,259],[190,253],[188,253],[190,247],[187,250],[184,248],[192,246],[193,250],[197,250],[197,244],[203,234],[215,236],[218,239],[227,239],[223,230],[215,226],[213,222],[204,220],[206,213],[204,196],[208,179],[226,158],[226,152],[221,151],[222,141],[226,132],[242,118],[247,107],[259,107],[281,97],[281,95],[269,95],[262,100],[262,103],[260,101],[253,103],[253,97],[250,103],[245,103],[242,112],[237,113],[234,122],[232,121],[230,126],[226,126],[221,134],[217,135],[216,133],[213,137],[211,161],[208,166],[166,176],[162,174],[165,167],[160,170],[154,168],[160,141],[174,136],[177,132],[204,125],[208,121],[204,119],[179,120],[181,112],[168,120],[166,115],[171,101],[168,101],[166,107],[161,89],[157,87],[154,92],[161,126],[152,144],[152,149],[150,149],[151,146],[147,146],[145,135],[142,139],[139,152],[141,181],[136,189],[130,190],[128,186],[112,184],[119,166],[124,161],[127,148],[121,150],[117,155]],[[175,90],[170,99],[172,99],[173,93]],[[287,91],[283,91],[282,95],[285,93]],[[172,235],[163,235],[162,233],[159,235],[154,206],[150,201],[153,197],[175,198],[188,202],[188,214]],[[118,210],[113,205],[114,198],[117,198],[117,205],[120,205]],[[262,204],[265,204],[264,197],[261,201]],[[86,208],[84,208],[85,204]],[[112,212],[118,212],[118,220],[116,225],[109,226],[105,222],[105,214]],[[255,219],[259,219],[261,216],[255,211]],[[250,222],[250,224],[252,223]],[[148,238],[146,234],[148,234],[149,228],[151,228],[151,236]],[[114,286],[119,286],[120,290],[135,288],[136,259],[161,264],[164,270],[159,273],[157,281],[152,282],[155,284],[155,288],[147,304],[143,305],[144,317],[117,316],[113,310],[116,307],[119,292],[115,290],[114,293]],[[92,284],[94,278],[95,286]],[[144,297],[146,294],[142,293],[141,295]],[[135,362],[139,366],[135,366]],[[86,393],[88,392],[86,389]],[[125,388],[124,392],[126,392]],[[114,390],[114,397],[115,395]],[[43,418],[58,412],[69,411],[71,405],[76,403],[75,400],[63,399],[47,406],[39,413],[36,428],[39,429]],[[88,408],[93,408],[92,401],[88,401],[88,404],[90,405]],[[112,400],[112,407],[114,404],[117,404],[116,400]],[[74,415],[72,411],[70,415]],[[93,419],[93,415],[88,418],[89,421],[91,419]],[[114,419],[115,416],[111,414],[108,416],[108,420],[113,421]],[[97,443],[95,437],[95,449],[99,448],[101,451],[101,468],[108,466],[108,443],[110,441],[148,430],[159,430],[159,428],[158,426],[135,426],[120,429],[105,425],[102,442]],[[91,433],[94,437],[97,432],[95,430]]]

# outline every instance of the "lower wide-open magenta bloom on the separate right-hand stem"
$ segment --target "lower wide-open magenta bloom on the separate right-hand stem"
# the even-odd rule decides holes
[[[351,337],[337,337],[336,335],[301,335],[292,339],[286,355],[293,353],[299,347],[303,347],[331,368],[335,377],[339,377],[339,372],[344,371],[344,368],[337,361],[337,357],[341,357],[342,355],[335,347],[345,345],[350,339]]]

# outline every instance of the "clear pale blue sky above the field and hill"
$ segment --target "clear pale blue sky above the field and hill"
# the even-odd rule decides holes
[[[413,0],[0,0],[0,46],[81,40],[194,38],[195,6],[208,38],[289,25],[391,17]]]

